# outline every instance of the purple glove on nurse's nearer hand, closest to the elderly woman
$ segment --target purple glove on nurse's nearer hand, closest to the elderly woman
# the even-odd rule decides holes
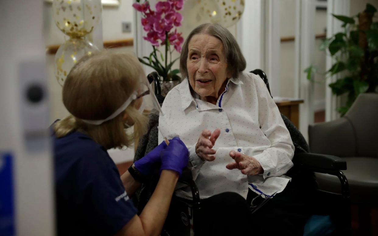
[[[161,151],[160,173],[162,170],[174,170],[181,176],[188,161],[188,149],[179,137],[174,137],[170,140],[168,147]]]

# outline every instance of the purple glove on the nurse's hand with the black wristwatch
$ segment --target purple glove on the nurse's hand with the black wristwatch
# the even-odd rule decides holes
[[[160,153],[167,147],[163,141],[156,148],[147,153],[146,156],[134,162],[135,168],[143,175],[147,176],[152,174],[153,165],[160,163]]]

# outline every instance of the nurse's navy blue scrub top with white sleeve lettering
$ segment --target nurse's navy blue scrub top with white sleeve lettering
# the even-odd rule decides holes
[[[135,216],[113,160],[80,132],[54,134],[58,235],[113,235]]]

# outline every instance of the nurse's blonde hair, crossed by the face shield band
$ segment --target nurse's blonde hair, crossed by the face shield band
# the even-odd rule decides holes
[[[138,58],[132,54],[101,51],[84,56],[71,69],[63,86],[63,103],[70,116],[54,124],[56,137],[73,131],[87,134],[106,149],[130,146],[147,131],[147,116],[132,102],[125,110],[134,121],[134,133],[126,134],[122,112],[101,125],[84,120],[102,120],[113,114],[139,89],[145,76]]]

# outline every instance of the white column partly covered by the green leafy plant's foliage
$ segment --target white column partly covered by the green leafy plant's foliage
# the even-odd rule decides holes
[[[336,32],[342,31],[342,22],[337,20],[332,14],[350,15],[350,0],[328,0],[327,3],[327,38],[332,37]],[[330,69],[335,60],[327,54],[326,70]],[[340,74],[329,77],[326,80],[325,87],[325,120],[330,121],[339,117],[337,108],[340,106],[340,98],[332,94],[332,89],[328,86],[330,83],[336,82]]]

